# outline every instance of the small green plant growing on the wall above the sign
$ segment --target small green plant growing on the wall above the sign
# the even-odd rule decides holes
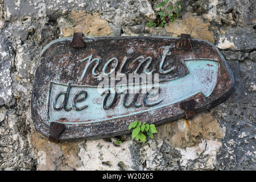
[[[167,5],[167,3],[170,0],[166,0],[163,3],[160,3],[158,6],[156,6],[156,8],[158,7],[164,7],[165,5]],[[168,9],[163,9],[162,11],[158,12],[158,15],[160,16],[160,20],[156,19],[156,22],[148,22],[146,24],[147,27],[152,27],[156,24],[156,26],[159,27],[164,27],[165,25],[168,25],[168,21],[169,19],[172,20],[172,22],[174,22],[175,17],[179,18],[180,17],[180,11],[181,11],[181,6],[180,3],[177,2],[177,7],[176,7],[176,12],[173,12],[174,10],[174,6],[168,6]]]

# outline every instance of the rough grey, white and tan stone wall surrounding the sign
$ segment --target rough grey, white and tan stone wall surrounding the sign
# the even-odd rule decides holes
[[[181,18],[146,27],[162,0],[0,0],[0,170],[255,170],[256,2],[180,1]],[[176,2],[176,1],[174,1]],[[157,127],[146,143],[130,135],[51,143],[31,121],[32,82],[51,40],[84,35],[160,35],[208,40],[236,85],[222,104]]]

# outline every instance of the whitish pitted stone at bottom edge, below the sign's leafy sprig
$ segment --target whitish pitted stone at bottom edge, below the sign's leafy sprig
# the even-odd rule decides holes
[[[82,162],[78,170],[119,170],[120,166],[127,170],[133,169],[133,162],[129,146],[132,141],[123,142],[115,146],[104,140],[87,141],[77,154]]]

